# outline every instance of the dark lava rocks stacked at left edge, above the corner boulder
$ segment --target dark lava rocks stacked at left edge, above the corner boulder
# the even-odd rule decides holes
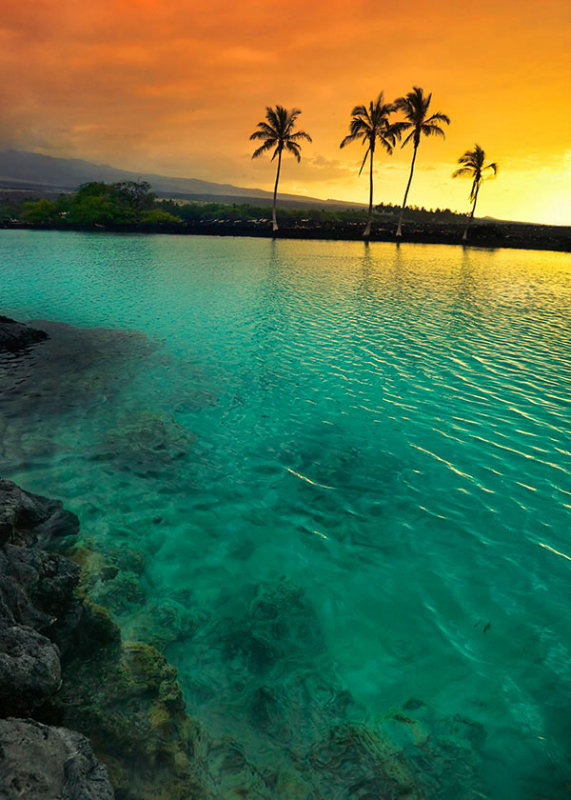
[[[30,713],[61,683],[56,643],[74,603],[79,569],[55,553],[19,545],[77,533],[61,503],[0,481],[0,714]],[[51,632],[51,636],[48,632]],[[48,633],[48,635],[46,635]]]

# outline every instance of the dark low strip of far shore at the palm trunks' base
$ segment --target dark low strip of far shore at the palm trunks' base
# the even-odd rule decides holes
[[[393,244],[434,244],[486,249],[545,250],[571,252],[571,226],[534,225],[532,223],[474,223],[468,241],[462,242],[463,225],[408,225],[397,240],[394,225],[380,225],[365,240],[362,222],[284,224],[274,234],[267,221],[213,220],[209,222],[162,225],[27,225],[4,223],[3,230],[72,231],[75,233],[136,233],[178,236],[235,236],[265,239],[300,239],[321,241],[392,242]]]

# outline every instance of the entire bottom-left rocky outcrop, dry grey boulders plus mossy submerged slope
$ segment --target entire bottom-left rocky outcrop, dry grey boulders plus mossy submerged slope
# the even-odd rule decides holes
[[[77,530],[61,503],[0,481],[0,717],[35,720],[2,721],[0,783],[21,790],[0,800],[113,797],[81,734],[118,800],[198,798],[199,730],[176,671],[153,647],[123,643],[82,594],[80,567],[39,549]]]

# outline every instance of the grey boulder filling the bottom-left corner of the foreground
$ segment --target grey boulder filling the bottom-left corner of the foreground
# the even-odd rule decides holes
[[[113,800],[85,736],[33,720],[0,720],[0,800]]]

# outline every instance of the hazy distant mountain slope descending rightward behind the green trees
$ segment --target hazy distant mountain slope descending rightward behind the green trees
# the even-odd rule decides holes
[[[233,186],[229,183],[212,183],[198,178],[171,178],[153,173],[129,172],[107,164],[92,164],[78,158],[54,158],[24,150],[0,152],[0,190],[23,190],[35,193],[66,192],[77,189],[82,183],[104,181],[148,181],[154,192],[162,197],[188,200],[217,199],[225,202],[262,202],[272,200],[272,192]],[[316,197],[282,194],[280,202],[320,207],[360,208],[360,203],[342,200],[320,200]]]

